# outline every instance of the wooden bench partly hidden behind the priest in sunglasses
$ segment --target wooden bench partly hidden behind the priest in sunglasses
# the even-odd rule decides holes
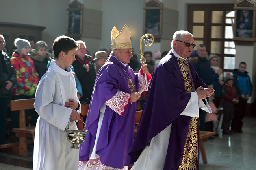
[[[142,110],[139,110],[136,112],[135,115],[135,129],[134,129],[134,135],[136,135],[137,133],[137,129],[139,126],[139,121],[141,119],[141,113]],[[202,159],[204,163],[207,163],[207,158],[206,158],[206,151],[205,151],[205,146],[204,146],[204,142],[206,142],[208,140],[208,137],[215,135],[215,132],[209,132],[209,131],[200,131],[199,132],[199,146],[200,146],[200,152],[202,155]]]

